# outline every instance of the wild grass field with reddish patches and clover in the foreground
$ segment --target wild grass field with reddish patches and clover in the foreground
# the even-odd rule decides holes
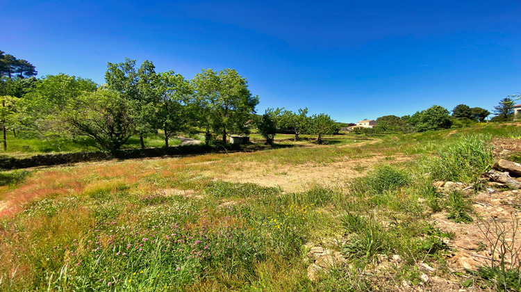
[[[326,145],[4,172],[0,290],[449,291],[431,274],[422,280],[420,263],[454,291],[495,289],[452,270],[446,242],[458,234],[431,216],[458,227],[477,216],[472,195],[433,182],[477,182],[492,141],[520,137],[515,124],[340,135]],[[312,281],[316,247],[342,261]]]

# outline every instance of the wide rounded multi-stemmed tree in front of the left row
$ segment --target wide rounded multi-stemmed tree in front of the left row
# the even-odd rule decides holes
[[[94,139],[99,149],[114,152],[136,133],[133,101],[107,89],[85,92],[60,113],[64,133]]]

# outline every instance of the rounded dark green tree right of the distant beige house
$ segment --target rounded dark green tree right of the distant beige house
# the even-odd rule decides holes
[[[449,129],[452,125],[449,111],[443,106],[431,106],[427,110],[416,112],[409,121],[419,132]]]

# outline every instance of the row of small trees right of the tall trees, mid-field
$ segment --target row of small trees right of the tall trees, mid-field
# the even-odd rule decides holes
[[[273,143],[276,133],[292,133],[295,140],[299,140],[301,133],[317,135],[318,144],[322,144],[322,136],[338,133],[338,124],[329,115],[308,116],[307,113],[308,108],[301,108],[297,113],[284,108],[268,108],[258,119],[257,128],[267,144]]]

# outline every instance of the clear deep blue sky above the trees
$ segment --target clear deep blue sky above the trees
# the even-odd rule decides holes
[[[188,79],[235,68],[259,113],[492,111],[521,91],[521,1],[0,0],[0,15],[0,50],[38,76],[104,83],[106,63],[125,57]]]

